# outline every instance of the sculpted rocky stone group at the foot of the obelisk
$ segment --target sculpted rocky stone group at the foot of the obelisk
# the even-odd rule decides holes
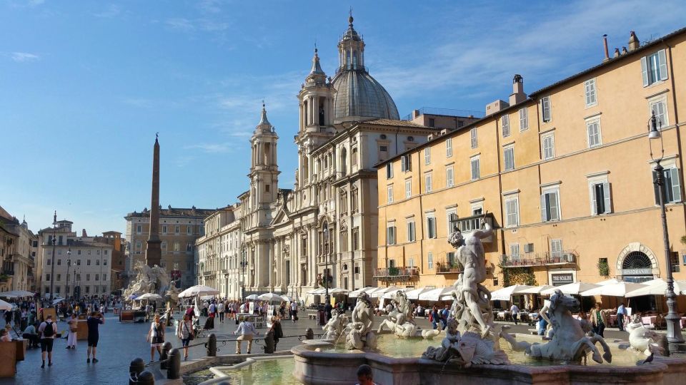
[[[149,267],[143,262],[138,262],[134,270],[136,271],[136,279],[124,289],[125,299],[130,300],[132,297],[153,293],[159,294],[165,301],[172,302],[172,307],[179,302],[181,290],[177,288],[176,282],[170,279],[169,274],[166,274],[164,267],[157,265]]]

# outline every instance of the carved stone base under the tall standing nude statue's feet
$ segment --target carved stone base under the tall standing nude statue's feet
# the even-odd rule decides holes
[[[460,335],[457,328],[457,320],[449,319],[441,346],[429,347],[422,354],[422,358],[448,362],[466,368],[472,364],[509,364],[507,354],[497,349],[492,339],[484,339],[480,334],[473,332]]]

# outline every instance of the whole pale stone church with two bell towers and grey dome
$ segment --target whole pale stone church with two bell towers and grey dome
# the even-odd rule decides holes
[[[299,91],[298,168],[292,188],[279,188],[279,135],[262,106],[250,139],[249,189],[234,207],[241,238],[240,260],[231,264],[236,268],[200,271],[212,266],[203,252],[210,240],[197,241],[199,275],[232,279],[229,274],[239,274],[240,292],[235,284],[222,285],[226,297],[269,291],[302,297],[324,284],[347,290],[374,284],[374,165],[425,143],[439,129],[399,120],[393,99],[364,66],[365,44],[352,21],[351,16],[338,43],[334,77],[324,73],[315,49]]]

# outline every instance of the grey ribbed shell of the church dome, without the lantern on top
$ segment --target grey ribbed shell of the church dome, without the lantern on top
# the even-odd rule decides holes
[[[340,71],[332,84],[336,89],[335,119],[359,117],[399,120],[398,108],[389,93],[364,69]]]

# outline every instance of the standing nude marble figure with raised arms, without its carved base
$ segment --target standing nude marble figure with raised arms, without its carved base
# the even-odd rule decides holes
[[[492,235],[491,226],[481,220],[483,230],[475,230],[464,237],[457,230],[448,242],[457,249],[456,257],[464,267],[455,282],[452,317],[457,319],[461,332],[475,332],[487,338],[493,329],[491,293],[482,284],[486,280],[486,260],[482,238]]]

